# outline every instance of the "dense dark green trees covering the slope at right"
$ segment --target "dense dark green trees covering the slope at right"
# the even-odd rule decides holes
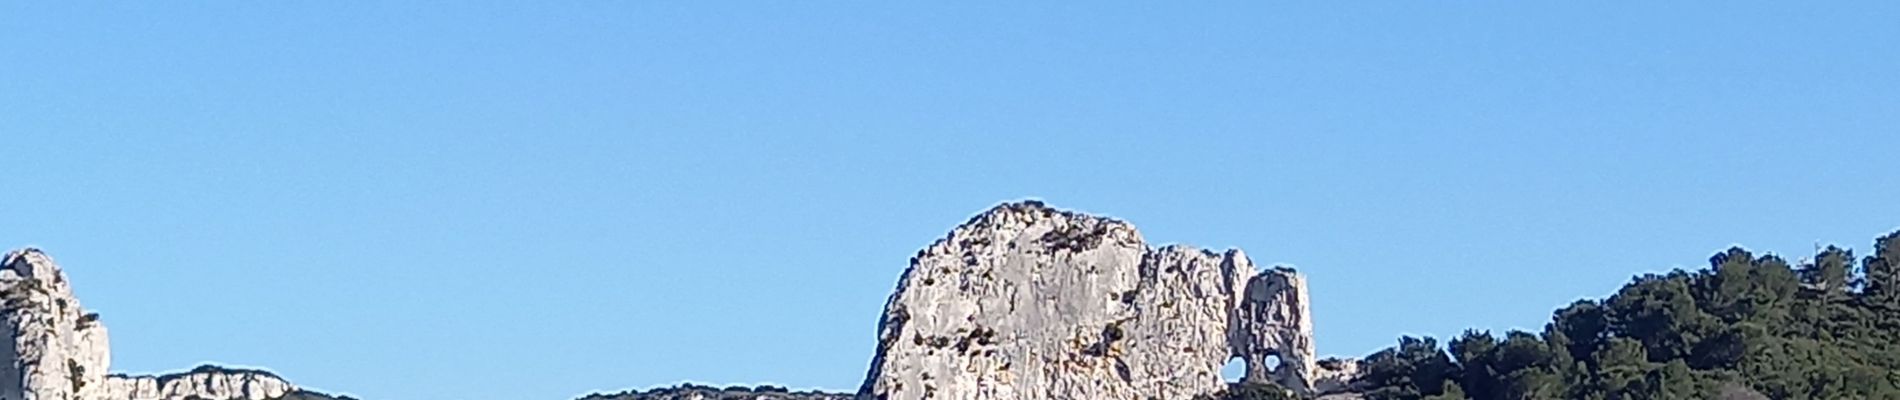
[[[1543,332],[1402,337],[1360,368],[1372,400],[1900,398],[1900,231],[1858,262],[1729,248],[1558,309]]]

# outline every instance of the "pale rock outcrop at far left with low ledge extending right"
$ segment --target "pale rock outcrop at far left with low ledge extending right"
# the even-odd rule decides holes
[[[198,368],[171,375],[106,375],[106,326],[72,296],[66,275],[36,248],[0,258],[0,400],[266,400],[296,392],[268,372]]]

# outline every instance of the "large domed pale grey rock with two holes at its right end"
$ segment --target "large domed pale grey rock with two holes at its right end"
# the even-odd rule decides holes
[[[859,394],[1193,398],[1226,387],[1231,358],[1248,381],[1311,392],[1298,273],[1256,271],[1241,250],[1151,248],[1127,222],[1024,201],[910,260]]]

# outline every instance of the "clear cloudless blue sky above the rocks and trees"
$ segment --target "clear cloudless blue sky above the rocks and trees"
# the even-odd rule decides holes
[[[1896,2],[0,4],[0,246],[114,370],[855,389],[998,201],[1309,275],[1322,353],[1900,226]]]

